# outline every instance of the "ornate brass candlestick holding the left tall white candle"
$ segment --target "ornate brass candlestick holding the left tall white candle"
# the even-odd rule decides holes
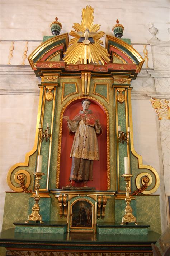
[[[40,223],[43,223],[42,221],[42,216],[39,214],[39,211],[40,211],[40,207],[39,207],[39,200],[40,200],[40,196],[39,196],[39,188],[40,188],[40,184],[39,184],[39,180],[41,180],[41,176],[42,175],[45,175],[45,173],[33,173],[33,175],[36,176],[36,195],[34,196],[34,201],[35,201],[35,204],[34,206],[32,207],[32,213],[30,215],[28,215],[28,219],[27,221],[25,221],[25,223],[28,223],[29,220],[32,220],[32,221],[35,221],[35,222],[40,222]]]

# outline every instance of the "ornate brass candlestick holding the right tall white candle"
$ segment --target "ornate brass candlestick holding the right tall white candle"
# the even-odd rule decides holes
[[[124,209],[125,215],[122,218],[121,225],[124,225],[125,223],[126,224],[131,223],[131,222],[134,222],[135,225],[137,225],[136,217],[134,217],[132,215],[132,208],[130,206],[131,198],[129,196],[129,189],[130,189],[130,180],[131,180],[132,176],[133,176],[132,174],[128,174],[128,173],[121,175],[121,177],[124,177],[124,180],[126,181],[126,198],[125,198],[125,201],[126,201],[126,204],[127,204],[125,209]]]

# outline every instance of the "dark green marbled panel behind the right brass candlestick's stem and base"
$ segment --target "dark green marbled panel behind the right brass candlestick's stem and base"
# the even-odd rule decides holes
[[[131,200],[131,204],[130,205],[132,207],[132,214],[133,214],[133,216],[137,217],[136,201],[135,200]],[[125,207],[126,207],[125,200],[122,200],[122,199],[116,199],[115,200],[115,222],[117,222],[117,223],[121,223],[122,222],[122,217],[124,217],[124,215],[125,215],[125,211],[124,211]],[[138,221],[139,220],[137,219],[137,222]],[[144,222],[144,221],[140,221],[140,222]]]

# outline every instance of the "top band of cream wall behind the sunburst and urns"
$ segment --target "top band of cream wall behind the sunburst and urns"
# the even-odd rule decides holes
[[[124,38],[132,42],[145,42],[151,38],[148,23],[154,22],[159,29],[157,37],[169,40],[168,0],[1,0],[0,39],[39,39],[51,35],[49,24],[55,20],[62,23],[61,33],[70,32],[73,23],[81,22],[81,10],[87,5],[94,8],[94,22],[101,30],[112,33],[115,21],[124,26]]]

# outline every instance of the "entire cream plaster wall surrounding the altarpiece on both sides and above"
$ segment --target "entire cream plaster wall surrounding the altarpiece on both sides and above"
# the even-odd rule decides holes
[[[49,24],[55,20],[56,16],[63,26],[61,33],[70,32],[73,23],[81,22],[81,10],[88,4],[94,8],[94,23],[101,24],[100,29],[109,35],[113,35],[112,27],[118,18],[124,26],[123,37],[131,38],[131,42],[146,43],[152,37],[148,31],[149,22],[155,23],[155,27],[159,29],[156,36],[160,40],[168,41],[170,39],[167,32],[167,28],[169,28],[169,24],[167,24],[169,21],[168,0],[1,0],[0,40],[31,40],[32,42],[28,43],[28,56],[40,44],[40,42],[33,42],[33,40],[41,41],[44,35],[51,35]],[[8,62],[10,44],[11,42],[0,41],[0,64]],[[16,52],[14,51],[11,64],[22,63],[22,55],[19,54],[19,51],[20,48],[23,50],[24,47],[24,43],[15,42],[14,49]],[[148,49],[151,52],[149,47]],[[154,51],[152,52],[154,53]],[[28,61],[25,61],[25,64],[28,65]],[[150,67],[153,66],[150,64]],[[155,67],[157,67],[156,64]],[[161,69],[159,68],[160,72]],[[34,145],[39,81],[28,67],[15,66],[9,70],[9,66],[1,66],[0,75],[1,230],[4,191],[9,191],[6,183],[7,172],[13,164],[24,161],[25,153],[30,151]],[[132,111],[134,147],[138,154],[143,156],[143,163],[153,166],[159,175],[162,175],[159,121],[147,96],[147,94],[155,95],[156,93],[167,94],[168,87],[162,89],[163,86],[160,86],[159,77],[155,78],[154,75],[143,70],[139,74],[139,79],[133,81]],[[157,81],[156,87],[155,81]],[[163,82],[161,80],[161,85]],[[29,93],[29,89],[31,89],[31,93]],[[141,97],[139,97],[140,95]],[[163,193],[162,184],[161,176],[161,185],[157,193]],[[164,203],[164,196],[162,198]],[[163,209],[164,205],[161,207]],[[164,211],[162,211],[162,224],[166,227]]]

